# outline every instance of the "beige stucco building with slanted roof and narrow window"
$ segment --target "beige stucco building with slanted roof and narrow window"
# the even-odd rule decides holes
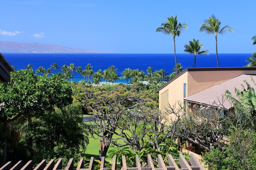
[[[246,78],[242,76],[236,79],[236,81],[228,82],[232,78],[240,75],[244,75]],[[168,109],[169,104],[170,106],[176,105],[177,107],[178,101],[182,105],[186,101],[195,104],[200,103],[208,105],[211,104],[211,101],[213,100],[222,100],[220,99],[220,96],[223,95],[226,89],[232,91],[235,86],[239,88],[243,83],[243,80],[246,79],[247,81],[250,81],[250,75],[256,75],[256,67],[185,69],[175,78],[171,79],[155,91],[159,93],[159,109],[164,112]],[[224,83],[226,81],[227,83]],[[230,84],[234,82],[235,84]],[[219,90],[219,87],[216,85],[221,85],[222,91]],[[228,104],[226,104],[226,106],[228,106]],[[230,108],[231,107],[227,107],[227,109]]]

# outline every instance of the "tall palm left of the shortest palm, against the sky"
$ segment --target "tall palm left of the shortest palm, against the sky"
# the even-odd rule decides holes
[[[175,45],[175,37],[181,34],[181,32],[188,28],[187,24],[178,23],[177,15],[176,17],[168,17],[165,23],[161,23],[161,27],[156,29],[156,32],[163,32],[166,35],[173,35],[173,44],[174,44],[174,57],[175,57],[175,65],[177,65],[176,58],[176,45]]]

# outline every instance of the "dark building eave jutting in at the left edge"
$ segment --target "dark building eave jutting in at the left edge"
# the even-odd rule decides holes
[[[11,81],[11,72],[14,70],[10,64],[6,61],[3,55],[0,53],[0,83]]]

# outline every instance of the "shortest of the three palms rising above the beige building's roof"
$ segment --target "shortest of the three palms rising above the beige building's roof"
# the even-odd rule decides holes
[[[189,54],[194,54],[194,67],[196,68],[196,54],[209,54],[208,50],[200,51],[200,49],[203,47],[202,44],[199,42],[199,40],[193,39],[193,41],[189,41],[189,44],[186,44],[185,46],[185,52],[188,52]]]

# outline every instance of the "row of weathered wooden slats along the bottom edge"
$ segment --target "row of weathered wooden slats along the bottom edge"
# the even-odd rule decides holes
[[[182,154],[179,155],[179,164],[182,168],[179,168],[171,155],[168,155],[168,166],[164,164],[164,160],[161,155],[158,155],[158,167],[155,168],[151,155],[147,156],[147,167],[142,167],[140,164],[139,156],[136,155],[136,167],[127,167],[125,156],[122,156],[122,168],[121,170],[204,170],[202,165],[191,154],[190,164],[185,160]],[[113,164],[111,168],[105,168],[105,158],[101,158],[101,165],[99,170],[116,170],[116,156],[113,157]],[[63,167],[62,158],[60,158],[56,164],[54,159],[51,159],[48,163],[46,160],[42,160],[35,168],[33,168],[33,161],[28,161],[27,164],[23,165],[22,161],[18,161],[17,164],[12,166],[12,162],[7,162],[0,170],[93,170],[94,158],[92,157],[89,162],[89,167],[84,167],[84,159],[80,158],[77,167],[74,167],[74,160],[71,158],[68,161],[68,165]]]

